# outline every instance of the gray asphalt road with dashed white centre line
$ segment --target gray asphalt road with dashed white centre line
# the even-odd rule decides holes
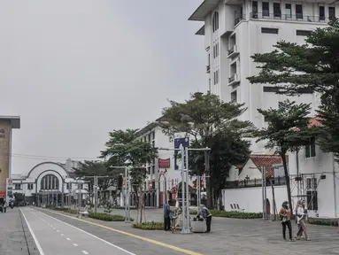
[[[135,255],[45,213],[27,207],[21,210],[41,255]]]

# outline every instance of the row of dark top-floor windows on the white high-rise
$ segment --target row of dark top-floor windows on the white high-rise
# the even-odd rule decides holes
[[[281,17],[281,4],[280,3],[273,3],[274,4],[274,17]],[[296,18],[303,19],[303,4],[295,4],[296,10]],[[256,15],[258,13],[258,2],[252,2],[252,15]],[[270,3],[269,2],[262,2],[262,16],[268,17],[270,16]],[[285,4],[285,17],[292,18],[292,4]],[[256,17],[252,17],[256,18]],[[333,19],[335,18],[335,7],[328,7],[328,18]],[[319,19],[325,20],[325,6],[319,6]]]

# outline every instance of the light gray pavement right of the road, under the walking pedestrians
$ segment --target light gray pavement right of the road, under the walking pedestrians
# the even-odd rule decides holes
[[[183,254],[177,253],[170,249],[157,245],[153,245],[148,241],[140,241],[136,238],[127,236],[125,239],[117,236],[117,233],[98,226],[91,225],[79,220],[73,220],[65,216],[60,216],[49,211],[46,212],[53,217],[89,231],[96,236],[104,238],[107,241],[116,241],[115,244],[133,251],[135,254]],[[114,210],[112,213],[124,215],[124,210]],[[135,218],[135,210],[131,210],[131,216]],[[71,216],[71,214],[68,214]],[[146,210],[147,220],[162,220],[161,209]],[[162,243],[167,243],[176,247],[195,251],[200,254],[291,254],[294,255],[319,255],[319,254],[339,254],[339,234],[337,228],[326,226],[309,225],[309,234],[311,242],[304,240],[297,242],[284,242],[281,235],[280,222],[265,220],[236,220],[224,218],[212,218],[212,233],[210,234],[193,234],[181,235],[165,233],[161,230],[150,231],[131,228],[124,222],[104,222],[101,220],[86,219],[95,224],[107,226],[109,228],[118,229],[136,236],[143,236]],[[296,226],[293,224],[294,233]],[[113,237],[112,237],[113,236]],[[123,234],[121,236],[124,236]],[[121,240],[125,240],[122,242]],[[140,249],[135,250],[135,245],[140,245]],[[147,249],[144,252],[143,249]],[[158,253],[157,253],[158,252]],[[187,253],[189,254],[189,253]],[[194,253],[193,253],[194,254]]]

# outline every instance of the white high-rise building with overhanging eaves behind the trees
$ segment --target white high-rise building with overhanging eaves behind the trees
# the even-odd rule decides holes
[[[189,20],[204,21],[196,35],[204,35],[208,90],[223,101],[244,103],[248,111],[241,119],[264,128],[257,109],[276,108],[287,97],[275,94],[273,86],[250,84],[246,78],[258,74],[258,64],[250,56],[274,50],[281,40],[304,43],[310,31],[327,26],[335,13],[339,13],[339,2],[334,0],[204,0]],[[319,105],[310,91],[293,100],[312,103],[312,114]],[[264,152],[264,143],[253,143],[251,149]]]

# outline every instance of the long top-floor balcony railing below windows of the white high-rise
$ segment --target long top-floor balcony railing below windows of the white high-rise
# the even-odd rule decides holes
[[[328,23],[330,19],[328,17],[306,15],[304,13],[297,13],[296,15],[281,14],[281,12],[250,12],[250,19],[281,19],[281,20],[293,20],[293,21],[305,21],[305,22],[320,22]]]

